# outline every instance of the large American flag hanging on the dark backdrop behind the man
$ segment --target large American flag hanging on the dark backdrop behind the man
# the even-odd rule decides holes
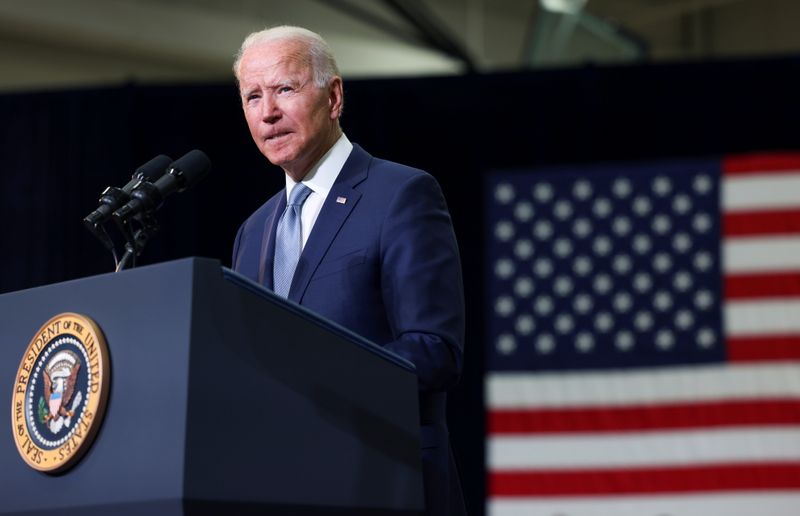
[[[487,186],[488,513],[800,514],[800,155]]]

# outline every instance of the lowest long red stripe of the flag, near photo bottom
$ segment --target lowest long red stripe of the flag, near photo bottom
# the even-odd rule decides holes
[[[593,496],[800,488],[800,464],[492,471],[489,496]]]

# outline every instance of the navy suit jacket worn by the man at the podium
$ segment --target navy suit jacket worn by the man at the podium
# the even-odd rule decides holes
[[[233,269],[269,289],[285,207],[281,190],[242,224],[233,248]],[[463,362],[464,294],[436,180],[355,145],[308,237],[288,297],[416,366],[427,514],[465,514],[445,421],[445,392]]]

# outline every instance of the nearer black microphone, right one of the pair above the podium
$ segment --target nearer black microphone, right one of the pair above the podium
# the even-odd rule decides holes
[[[191,150],[167,167],[167,173],[155,183],[140,182],[130,194],[131,200],[114,212],[117,224],[142,212],[157,210],[164,198],[173,192],[183,192],[197,184],[209,172],[211,161],[201,150]]]

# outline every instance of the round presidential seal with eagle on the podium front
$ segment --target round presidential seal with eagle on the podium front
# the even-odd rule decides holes
[[[105,338],[88,317],[59,314],[36,332],[11,406],[17,450],[30,467],[58,473],[86,453],[103,419],[109,372]]]

